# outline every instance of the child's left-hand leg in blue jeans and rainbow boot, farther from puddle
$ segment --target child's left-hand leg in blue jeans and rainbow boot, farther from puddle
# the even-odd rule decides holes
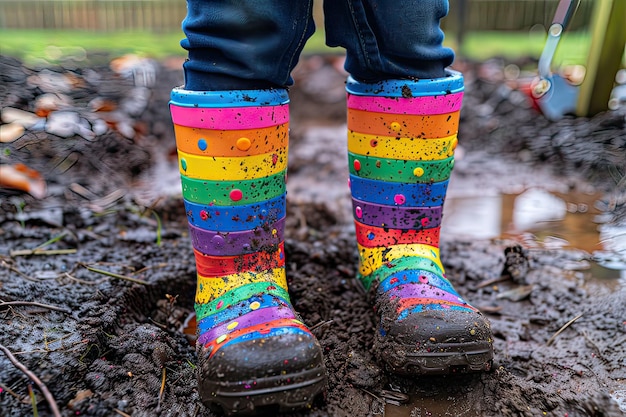
[[[283,232],[290,72],[311,1],[188,0],[170,108],[198,272],[198,382],[227,414],[309,406],[322,350],[289,300]]]

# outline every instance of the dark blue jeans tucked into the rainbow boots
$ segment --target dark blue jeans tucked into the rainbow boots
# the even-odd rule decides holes
[[[313,0],[187,0],[188,90],[288,87],[315,30]],[[346,50],[345,69],[372,83],[439,78],[454,53],[442,45],[447,0],[325,0],[326,43]]]

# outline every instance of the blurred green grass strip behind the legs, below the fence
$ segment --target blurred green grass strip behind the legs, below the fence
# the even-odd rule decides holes
[[[94,33],[81,31],[46,30],[0,30],[2,47],[0,53],[15,56],[27,63],[48,61],[60,62],[70,56],[79,60],[86,51],[107,52],[118,56],[135,53],[156,59],[170,56],[185,56],[180,47],[182,32],[110,32]],[[466,36],[462,48],[454,44],[454,34],[447,34],[446,45],[457,50],[459,56],[484,60],[494,56],[510,59],[539,57],[545,34],[517,32],[472,32]],[[555,64],[584,64],[589,48],[589,36],[583,32],[566,32],[561,39]],[[341,51],[324,44],[324,34],[318,31],[309,40],[305,53]]]

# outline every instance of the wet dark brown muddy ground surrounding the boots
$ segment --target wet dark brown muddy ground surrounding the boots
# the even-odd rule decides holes
[[[68,93],[75,107],[124,93],[114,86],[128,74],[99,58],[52,67],[79,81]],[[603,221],[623,222],[624,112],[548,122],[517,91],[509,64],[455,65],[466,99],[451,192],[549,183],[597,193]],[[2,107],[34,111],[42,94],[29,84],[34,70],[6,57],[0,65]],[[50,398],[63,416],[211,416],[182,331],[195,271],[167,109],[179,65],[155,63],[134,135],[32,129],[0,145],[2,163],[24,162],[47,182],[42,199],[0,190],[0,416],[53,415]],[[408,379],[374,361],[374,319],[354,279],[340,67],[340,56],[306,57],[291,89],[288,281],[329,370],[326,398],[294,416],[624,415],[626,284],[596,279],[586,269],[596,255],[580,249],[444,233],[449,278],[491,320],[493,371]]]

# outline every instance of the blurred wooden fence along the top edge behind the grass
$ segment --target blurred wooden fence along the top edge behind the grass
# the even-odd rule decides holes
[[[442,26],[450,31],[547,27],[557,4],[558,0],[450,0],[450,16]],[[593,0],[582,0],[572,30],[587,26],[592,6]],[[0,29],[171,32],[180,29],[185,12],[185,0],[0,0]],[[321,22],[321,0],[316,0],[315,16]]]

